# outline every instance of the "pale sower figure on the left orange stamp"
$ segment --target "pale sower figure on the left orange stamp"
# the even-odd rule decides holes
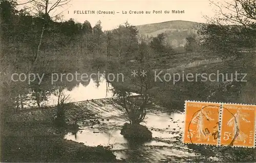
[[[207,137],[207,141],[209,141],[209,131],[207,130],[207,135],[204,132],[204,118],[206,118],[207,121],[214,121],[214,119],[210,118],[203,109],[200,110],[191,121],[193,124],[197,125],[196,137],[198,138],[198,141],[201,141],[202,136],[203,138]],[[196,119],[198,121],[195,121]]]

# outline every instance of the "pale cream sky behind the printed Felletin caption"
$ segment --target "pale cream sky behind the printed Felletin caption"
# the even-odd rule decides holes
[[[50,0],[52,2],[56,0]],[[75,12],[95,11],[95,14],[76,14]],[[161,13],[153,13],[162,11]],[[170,13],[165,14],[167,10]],[[173,14],[172,10],[184,11],[184,13]],[[145,25],[170,20],[187,20],[206,22],[204,15],[213,16],[214,10],[208,0],[169,0],[169,1],[115,1],[115,0],[71,0],[69,5],[59,7],[54,14],[63,11],[63,20],[74,18],[78,22],[88,20],[94,26],[98,20],[101,21],[102,30],[111,30],[123,24],[126,20],[132,25]],[[97,14],[97,11],[112,11],[115,14]],[[127,11],[127,14],[122,14]],[[129,11],[144,11],[144,14],[129,14]],[[145,11],[151,11],[145,14]],[[119,13],[117,13],[119,12]],[[50,15],[53,13],[50,13]],[[54,15],[53,14],[53,15]]]

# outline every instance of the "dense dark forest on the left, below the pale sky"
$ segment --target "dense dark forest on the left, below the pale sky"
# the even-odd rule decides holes
[[[28,67],[43,66],[54,54],[74,57],[72,51],[77,52],[80,60],[93,58],[99,65],[110,57],[126,62],[138,56],[138,44],[143,42],[138,30],[128,22],[103,32],[100,20],[92,27],[87,20],[55,21],[49,13],[38,11],[32,15],[28,10],[17,10],[15,1],[2,1],[0,5],[3,68],[8,65],[21,68],[25,63]],[[169,47],[163,49],[163,39],[159,35],[150,43],[155,56],[174,54]]]

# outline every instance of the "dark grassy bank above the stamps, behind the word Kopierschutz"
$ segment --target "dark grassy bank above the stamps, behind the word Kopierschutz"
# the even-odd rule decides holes
[[[152,102],[157,105],[166,107],[168,111],[183,111],[184,109],[184,101],[185,100],[197,100],[197,101],[212,101],[212,102],[236,102],[236,103],[250,103],[250,99],[246,99],[245,97],[250,95],[250,92],[253,89],[248,87],[249,84],[253,83],[254,72],[250,67],[255,65],[254,63],[254,55],[247,55],[243,54],[240,59],[229,58],[227,60],[220,60],[218,62],[208,62],[207,64],[199,64],[195,66],[187,66],[183,70],[177,69],[176,72],[171,72],[169,69],[163,69],[163,72],[160,74],[160,78],[163,80],[155,81],[153,78],[148,78],[148,83],[151,84],[152,88],[147,91],[147,94],[150,95],[152,98]],[[191,56],[190,56],[191,57]],[[188,57],[189,58],[189,57]],[[191,59],[188,59],[184,62],[180,62],[180,65],[187,64]],[[160,72],[160,70],[159,70]],[[157,74],[159,73],[157,72]],[[233,81],[231,85],[232,87],[227,87],[225,85],[226,77],[224,77],[224,81],[220,78],[220,81],[217,81],[217,72],[222,74],[228,75],[228,80],[231,80],[231,74],[236,72],[238,73],[246,73],[246,79],[248,82],[236,82]],[[130,72],[129,72],[130,73]],[[192,82],[183,81],[180,78],[180,81],[173,83],[173,76],[172,80],[164,81],[164,74],[173,75],[175,73],[182,74],[186,76],[187,74],[191,73],[196,76],[196,74],[207,74],[208,78],[206,81],[201,81],[201,77],[194,78]],[[209,75],[211,73],[216,74],[216,76],[211,76],[210,81]],[[127,74],[127,76],[130,74]],[[153,74],[154,75],[154,74]],[[238,80],[241,79],[242,76],[238,76]],[[127,91],[139,93],[141,90],[139,79],[138,81],[134,82],[132,78],[125,78],[124,82],[117,82],[113,81],[111,84],[116,88],[123,88]],[[136,83],[136,84],[135,84]],[[138,84],[139,83],[139,84]],[[230,86],[231,86],[230,85]],[[220,87],[220,86],[223,86]],[[213,92],[215,92],[213,94]],[[213,94],[213,95],[212,95]],[[249,96],[251,97],[251,96]],[[253,97],[251,97],[253,99]]]

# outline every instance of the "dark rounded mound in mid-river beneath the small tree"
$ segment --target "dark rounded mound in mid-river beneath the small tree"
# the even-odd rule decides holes
[[[148,141],[152,139],[152,132],[140,124],[131,125],[129,123],[125,123],[121,129],[121,134],[126,139],[141,141]]]

